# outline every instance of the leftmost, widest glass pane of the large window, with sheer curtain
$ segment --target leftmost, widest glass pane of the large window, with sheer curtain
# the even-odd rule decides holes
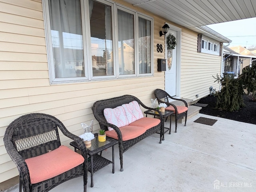
[[[82,77],[84,54],[80,0],[48,2],[55,77]]]

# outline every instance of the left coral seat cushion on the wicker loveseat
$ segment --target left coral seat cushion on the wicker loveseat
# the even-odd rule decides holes
[[[120,127],[119,129],[122,133],[123,141],[128,141],[130,139],[134,139],[146,132],[146,128],[144,128],[144,127],[136,127],[136,126],[130,126],[130,125]],[[108,137],[111,137],[113,139],[118,139],[115,130],[105,131],[105,133]]]

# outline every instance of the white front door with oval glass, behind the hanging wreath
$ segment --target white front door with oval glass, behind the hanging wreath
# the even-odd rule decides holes
[[[168,30],[168,33],[166,33],[166,39],[168,35],[174,35],[177,41],[177,31]],[[170,96],[178,96],[177,94],[177,45],[175,46],[175,49],[167,49],[167,43],[166,43],[166,72],[165,72],[165,91],[170,94]]]

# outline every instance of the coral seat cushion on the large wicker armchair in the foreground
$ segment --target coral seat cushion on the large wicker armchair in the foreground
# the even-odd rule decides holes
[[[84,157],[61,145],[44,155],[25,160],[32,184],[53,178],[84,163]]]

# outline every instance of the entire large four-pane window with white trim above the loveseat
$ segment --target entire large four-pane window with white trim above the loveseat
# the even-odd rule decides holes
[[[106,0],[43,0],[51,83],[152,75],[153,19]]]

